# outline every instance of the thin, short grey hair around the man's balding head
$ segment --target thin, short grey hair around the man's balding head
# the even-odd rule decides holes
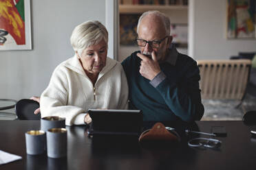
[[[166,16],[165,14],[163,14],[162,12],[159,12],[157,10],[153,10],[153,11],[147,11],[147,12],[144,12],[141,16],[140,16],[140,19],[138,20],[138,25],[137,25],[137,33],[138,33],[138,29],[140,27],[140,22],[142,21],[142,19],[147,16],[148,14],[153,14],[155,16],[159,16],[160,19],[162,19],[162,23],[164,24],[164,27],[165,27],[165,31],[167,33],[167,35],[170,35],[170,19],[168,16]]]

